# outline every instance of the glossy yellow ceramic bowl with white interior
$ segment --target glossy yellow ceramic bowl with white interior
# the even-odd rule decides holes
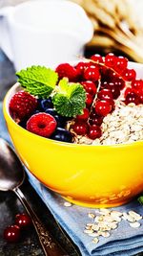
[[[130,64],[143,78],[143,65]],[[143,142],[89,146],[35,135],[10,117],[10,98],[17,90],[18,84],[13,85],[4,100],[5,119],[21,160],[43,184],[90,207],[117,206],[143,191]]]

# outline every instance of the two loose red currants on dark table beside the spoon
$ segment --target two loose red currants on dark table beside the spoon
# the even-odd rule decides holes
[[[21,230],[31,226],[31,218],[28,214],[17,214],[15,223],[4,230],[4,239],[10,243],[16,243],[20,239]]]

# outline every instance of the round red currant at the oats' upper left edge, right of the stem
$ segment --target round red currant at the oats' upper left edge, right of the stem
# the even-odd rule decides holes
[[[112,111],[112,105],[107,101],[98,101],[95,103],[95,112],[99,116],[107,116]]]

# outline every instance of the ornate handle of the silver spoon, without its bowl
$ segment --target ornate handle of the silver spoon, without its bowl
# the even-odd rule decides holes
[[[31,209],[30,204],[23,195],[22,191],[19,188],[15,188],[14,193],[21,200],[22,204],[25,206],[27,212],[31,216],[31,221],[37,232],[39,241],[43,247],[45,255],[47,256],[68,256],[65,250],[57,244],[54,238],[51,236],[50,232],[45,228],[43,223],[38,219],[34,211]]]

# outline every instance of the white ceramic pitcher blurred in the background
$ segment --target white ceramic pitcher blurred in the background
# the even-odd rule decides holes
[[[92,34],[86,12],[67,0],[35,0],[0,10],[0,47],[16,70],[75,60]]]

